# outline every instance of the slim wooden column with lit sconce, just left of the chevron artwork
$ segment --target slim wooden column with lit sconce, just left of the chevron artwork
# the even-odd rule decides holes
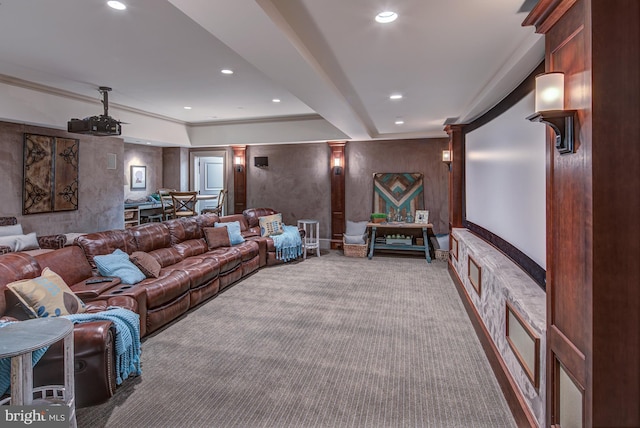
[[[331,248],[342,248],[342,235],[345,232],[345,193],[344,177],[347,171],[347,159],[344,155],[346,141],[328,143],[331,148],[329,165],[331,171]],[[339,163],[339,166],[336,164]]]

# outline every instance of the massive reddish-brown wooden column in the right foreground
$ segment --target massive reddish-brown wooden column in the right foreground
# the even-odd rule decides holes
[[[577,110],[574,153],[547,136],[552,427],[640,426],[639,16],[637,0],[541,0],[524,22]]]

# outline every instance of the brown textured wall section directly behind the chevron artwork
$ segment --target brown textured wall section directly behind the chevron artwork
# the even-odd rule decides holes
[[[448,233],[449,170],[442,163],[446,138],[351,141],[346,146],[346,218],[366,220],[373,208],[373,174],[419,172],[424,175],[424,203],[434,233]]]

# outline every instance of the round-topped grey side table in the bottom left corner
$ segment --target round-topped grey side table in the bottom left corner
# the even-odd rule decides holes
[[[33,387],[32,352],[63,339],[64,385]],[[0,358],[11,358],[11,397],[0,404],[65,404],[69,425],[76,426],[73,375],[73,323],[65,318],[37,318],[0,328]],[[34,399],[34,395],[37,398]]]

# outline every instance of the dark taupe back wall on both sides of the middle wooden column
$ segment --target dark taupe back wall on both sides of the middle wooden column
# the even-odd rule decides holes
[[[449,170],[442,163],[447,138],[351,141],[345,148],[346,220],[368,220],[373,206],[373,174],[424,174],[425,208],[435,233],[447,233]],[[247,146],[247,207],[271,207],[287,224],[320,221],[320,237],[331,236],[331,149],[326,143]],[[253,166],[268,156],[269,166]]]

